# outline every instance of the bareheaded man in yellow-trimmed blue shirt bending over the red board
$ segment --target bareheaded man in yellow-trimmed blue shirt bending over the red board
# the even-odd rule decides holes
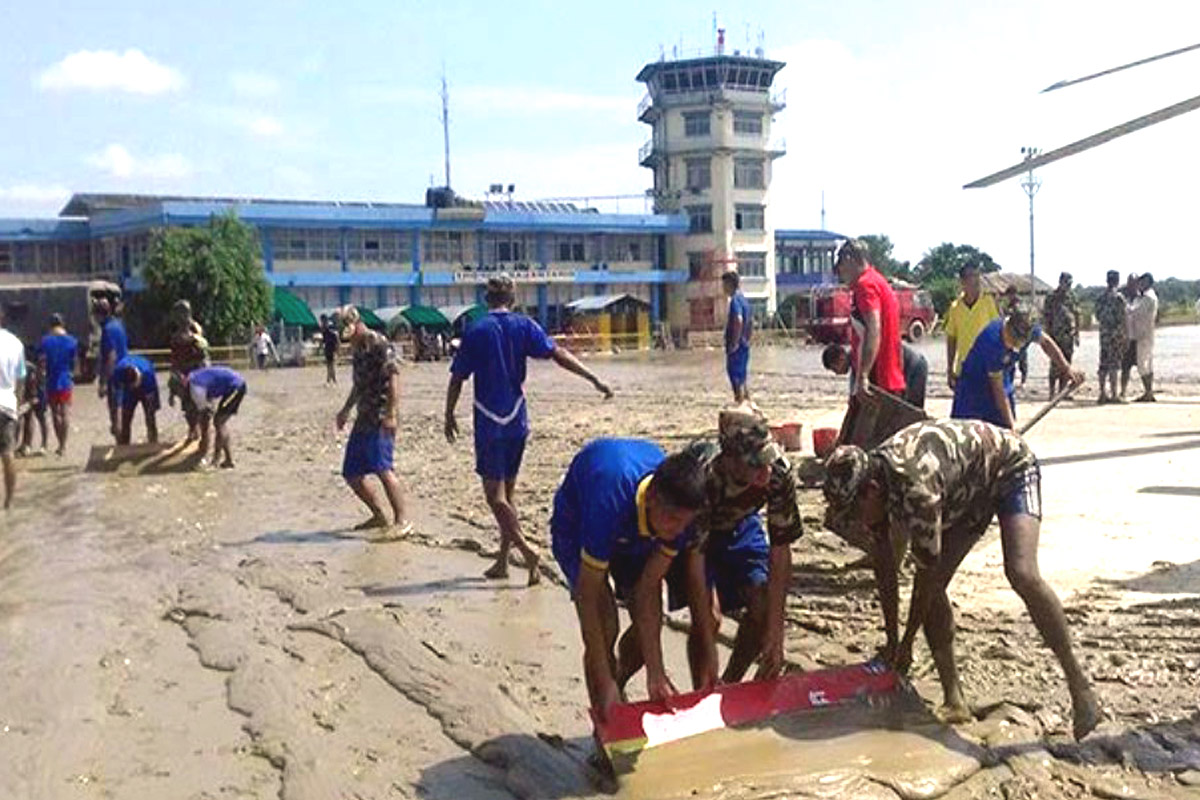
[[[704,505],[704,477],[691,453],[667,457],[652,441],[596,439],[575,456],[554,494],[551,548],[571,588],[588,697],[601,716],[622,702],[643,656],[649,698],[677,693],[662,666],[662,579]],[[618,599],[632,620],[619,660]]]

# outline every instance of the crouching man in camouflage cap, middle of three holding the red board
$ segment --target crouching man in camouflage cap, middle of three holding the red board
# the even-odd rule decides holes
[[[742,680],[756,658],[756,678],[782,670],[791,545],[804,533],[791,464],[762,411],[751,403],[726,409],[718,429],[718,441],[695,441],[685,450],[706,465],[707,500],[684,557],[667,577],[671,608],[686,602],[691,609],[688,660],[695,688],[716,682],[722,613],[743,612],[722,682]]]

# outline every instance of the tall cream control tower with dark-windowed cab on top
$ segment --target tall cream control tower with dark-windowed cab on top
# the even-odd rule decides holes
[[[637,73],[647,86],[638,119],[650,139],[638,161],[654,170],[655,211],[685,211],[686,235],[671,236],[671,264],[688,264],[689,279],[668,299],[670,319],[691,330],[725,324],[721,273],[737,269],[751,305],[775,311],[774,225],[768,210],[772,163],[786,151],[773,139],[772,120],[784,109],[772,83],[781,61],[762,48],[725,53],[720,31],[714,53],[648,64]]]

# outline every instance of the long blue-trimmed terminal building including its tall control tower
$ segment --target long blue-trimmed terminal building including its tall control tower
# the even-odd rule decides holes
[[[570,303],[626,296],[652,323],[713,330],[725,323],[720,275],[736,269],[766,318],[787,294],[835,281],[841,239],[776,228],[769,210],[772,164],[786,150],[772,134],[781,68],[761,50],[727,55],[720,41],[710,56],[642,68],[637,113],[652,136],[638,157],[653,170],[653,212],[84,193],[55,219],[0,219],[0,284],[104,278],[137,293],[156,230],[232,212],[256,229],[268,281],[313,311],[461,307],[504,270],[518,305],[551,330]]]

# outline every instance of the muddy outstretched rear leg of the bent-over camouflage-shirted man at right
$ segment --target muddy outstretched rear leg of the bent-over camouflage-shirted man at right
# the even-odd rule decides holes
[[[1100,708],[1084,669],[1075,660],[1062,603],[1038,570],[1040,528],[1042,523],[1032,515],[1001,517],[1000,536],[1004,553],[1004,576],[1025,601],[1038,633],[1062,664],[1067,676],[1067,688],[1070,691],[1075,738],[1082,739],[1099,723]]]

